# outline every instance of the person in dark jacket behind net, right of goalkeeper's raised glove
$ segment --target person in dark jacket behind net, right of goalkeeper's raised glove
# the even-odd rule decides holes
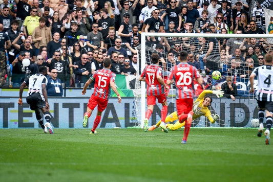
[[[226,77],[226,82],[221,85],[221,88],[224,91],[224,97],[235,101],[235,97],[237,96],[237,85],[232,82],[232,77]]]

